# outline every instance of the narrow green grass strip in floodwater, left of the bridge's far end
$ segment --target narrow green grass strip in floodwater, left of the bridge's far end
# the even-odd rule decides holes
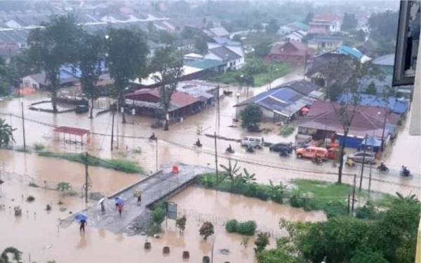
[[[38,153],[39,156],[53,157],[58,159],[65,159],[67,161],[74,161],[76,163],[86,163],[85,154],[72,153],[53,153],[51,151],[42,151]],[[88,156],[88,166],[98,166],[119,170],[124,173],[143,173],[143,169],[134,161],[125,159],[100,159],[94,156]]]

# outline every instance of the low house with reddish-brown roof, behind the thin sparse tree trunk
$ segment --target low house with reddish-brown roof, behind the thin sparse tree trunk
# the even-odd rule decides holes
[[[160,101],[161,95],[158,88],[136,90],[133,93],[124,95],[126,107],[135,109],[136,114],[163,119],[163,108]],[[199,99],[175,90],[171,96],[168,117],[171,121],[176,121],[182,116],[200,112],[202,108],[203,102]]]

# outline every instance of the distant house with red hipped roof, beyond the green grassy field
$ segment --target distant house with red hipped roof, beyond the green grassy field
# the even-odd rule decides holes
[[[276,43],[272,46],[267,60],[279,62],[291,62],[304,64],[313,56],[312,48],[307,48],[305,43],[288,41],[286,43]]]

